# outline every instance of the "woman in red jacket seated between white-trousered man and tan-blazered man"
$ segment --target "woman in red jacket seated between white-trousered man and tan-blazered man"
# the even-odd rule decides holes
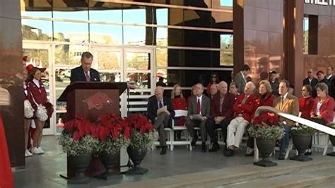
[[[254,111],[260,106],[272,106],[274,104],[274,95],[271,94],[271,84],[269,81],[263,80],[259,82],[259,95],[255,100]],[[250,137],[247,141],[247,152],[245,156],[252,156],[254,152],[254,138]]]

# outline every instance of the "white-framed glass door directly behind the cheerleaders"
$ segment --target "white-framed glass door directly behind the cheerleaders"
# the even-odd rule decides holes
[[[42,83],[45,85],[47,90],[47,98],[52,104],[56,104],[54,98],[54,72],[52,66],[52,45],[28,43],[23,42],[23,56],[28,56],[27,65],[33,64],[38,68],[46,68],[44,74],[42,74]],[[55,129],[55,114],[52,118],[45,122],[43,129],[43,135],[54,134]]]

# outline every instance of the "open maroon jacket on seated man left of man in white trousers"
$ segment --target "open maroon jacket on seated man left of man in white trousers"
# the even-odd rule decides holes
[[[222,111],[220,112],[220,95],[215,95],[211,101],[212,112],[211,117],[224,116],[225,119],[233,119],[233,104],[235,102],[235,96],[231,93],[225,95],[225,99],[222,102]]]

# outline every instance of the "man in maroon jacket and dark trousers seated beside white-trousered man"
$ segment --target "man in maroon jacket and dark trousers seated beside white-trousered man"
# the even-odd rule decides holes
[[[218,151],[218,138],[215,130],[222,129],[224,141],[227,139],[227,127],[233,119],[233,104],[235,96],[228,93],[228,84],[225,81],[218,83],[218,95],[211,100],[211,118],[206,121],[206,129],[211,137],[211,149],[209,152]]]

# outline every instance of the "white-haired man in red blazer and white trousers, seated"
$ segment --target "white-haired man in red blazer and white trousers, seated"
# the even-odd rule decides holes
[[[254,115],[254,104],[256,97],[254,93],[254,83],[249,81],[245,85],[245,93],[238,95],[237,100],[233,105],[235,118],[231,120],[227,130],[227,151],[225,156],[233,156],[234,150],[240,147],[243,134],[245,134],[245,127],[251,122]]]

